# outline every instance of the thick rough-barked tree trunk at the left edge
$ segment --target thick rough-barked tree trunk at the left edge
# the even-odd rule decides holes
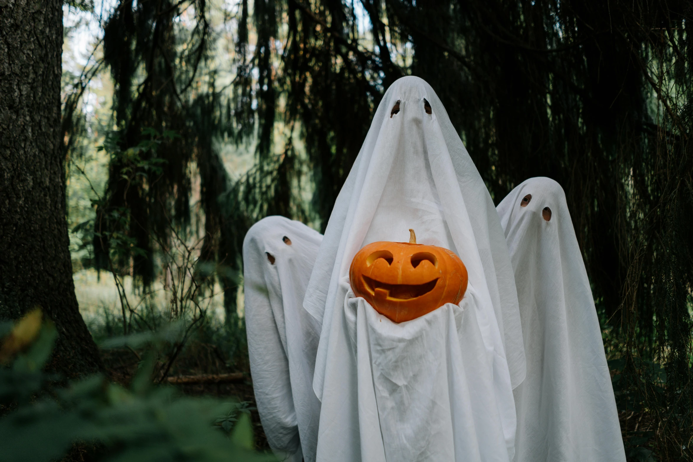
[[[60,158],[62,1],[0,0],[0,319],[40,305],[58,328],[50,368],[100,369],[72,281]]]

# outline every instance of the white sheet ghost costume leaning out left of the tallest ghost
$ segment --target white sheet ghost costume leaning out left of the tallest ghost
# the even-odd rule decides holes
[[[266,217],[243,240],[245,326],[267,442],[287,460],[315,461],[320,402],[313,392],[319,324],[303,308],[322,235]]]

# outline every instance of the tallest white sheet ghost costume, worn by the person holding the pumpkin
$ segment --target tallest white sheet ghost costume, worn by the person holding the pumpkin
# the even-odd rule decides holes
[[[420,244],[462,258],[469,283],[459,305],[397,324],[354,296],[349,266],[371,242],[408,242],[410,228]],[[512,267],[484,182],[420,78],[397,80],[378,106],[337,197],[304,307],[322,323],[317,461],[511,458],[512,388],[525,372]]]

